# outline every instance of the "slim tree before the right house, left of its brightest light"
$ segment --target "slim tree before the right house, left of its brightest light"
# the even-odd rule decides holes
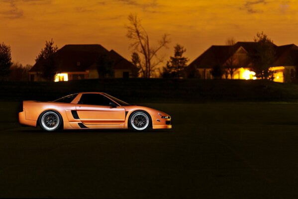
[[[234,38],[229,38],[226,41],[226,45],[228,46],[228,55],[229,58],[227,59],[227,61],[225,62],[224,66],[225,66],[225,71],[224,71],[224,75],[225,75],[225,79],[228,79],[228,75],[231,76],[231,79],[233,79],[233,75],[234,72],[237,70],[237,59],[235,56],[235,40]]]

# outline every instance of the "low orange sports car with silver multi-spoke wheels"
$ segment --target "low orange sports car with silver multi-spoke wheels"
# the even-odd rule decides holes
[[[19,123],[58,129],[172,128],[171,116],[153,108],[130,105],[105,93],[78,93],[58,100],[23,101]]]

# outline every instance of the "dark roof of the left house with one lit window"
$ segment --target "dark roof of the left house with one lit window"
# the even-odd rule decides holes
[[[114,69],[128,69],[133,65],[114,50],[108,51],[99,44],[68,44],[59,49],[54,57],[58,64],[58,72],[85,72],[96,68],[101,55],[107,55],[114,61]],[[39,60],[30,72],[42,71],[44,60]]]

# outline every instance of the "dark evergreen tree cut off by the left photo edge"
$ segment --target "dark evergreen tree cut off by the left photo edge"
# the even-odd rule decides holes
[[[5,45],[4,42],[0,43],[0,76],[2,81],[4,77],[8,76],[11,62],[11,49],[10,46]]]

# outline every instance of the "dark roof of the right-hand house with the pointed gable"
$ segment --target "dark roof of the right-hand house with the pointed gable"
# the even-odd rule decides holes
[[[224,65],[232,54],[237,52],[240,48],[244,49],[246,54],[237,54],[239,66],[249,67],[252,60],[247,54],[254,53],[256,49],[256,42],[237,42],[232,48],[231,46],[211,46],[203,52],[197,59],[195,59],[188,69],[197,68],[213,68],[215,65]],[[274,66],[293,66],[298,65],[298,46],[295,44],[276,46],[276,59]]]

